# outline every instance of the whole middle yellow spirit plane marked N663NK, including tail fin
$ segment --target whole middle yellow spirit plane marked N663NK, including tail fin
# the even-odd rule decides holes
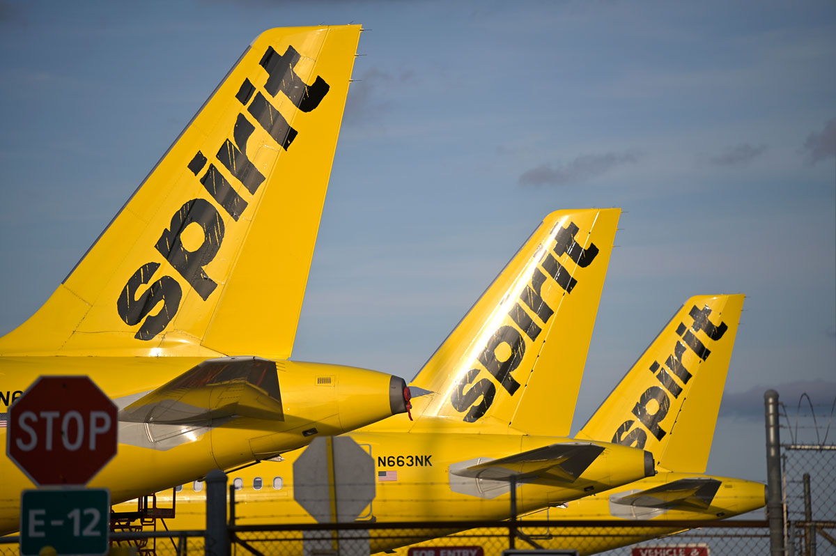
[[[549,434],[571,426],[618,218],[617,209],[546,217],[410,383],[415,421],[393,416],[349,433],[377,473],[359,519],[502,519],[512,479],[528,513],[654,474],[649,452]],[[313,521],[293,499],[298,452],[285,457],[230,474],[237,523]],[[178,488],[166,526],[202,527],[201,483]],[[424,537],[450,532],[440,523]],[[401,534],[370,549],[420,540]]]

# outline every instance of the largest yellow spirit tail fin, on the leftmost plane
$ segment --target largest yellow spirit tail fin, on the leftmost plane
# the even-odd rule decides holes
[[[359,33],[256,38],[0,355],[287,358]]]

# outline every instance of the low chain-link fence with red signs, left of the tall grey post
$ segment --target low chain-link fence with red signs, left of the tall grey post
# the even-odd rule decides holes
[[[445,528],[440,528],[444,525]],[[714,522],[689,529],[692,522],[449,522],[342,523],[337,525],[275,525],[230,527],[232,556],[441,556],[449,548],[457,556],[482,553],[502,556],[507,548],[573,549],[579,554],[634,554],[626,544],[653,538],[640,545],[640,556],[656,554],[759,555],[769,551],[769,528],[764,521]],[[451,534],[456,531],[459,533]],[[549,531],[544,534],[544,531]],[[674,534],[676,532],[682,532]],[[113,546],[134,548],[140,556],[181,556],[223,553],[207,551],[203,532],[112,533]],[[663,535],[664,538],[656,538]],[[18,554],[17,538],[0,539],[0,553]],[[410,548],[413,551],[410,554]],[[670,549],[676,550],[671,552]],[[477,551],[474,551],[477,549]],[[478,552],[481,549],[481,552]],[[125,552],[127,556],[129,552]]]

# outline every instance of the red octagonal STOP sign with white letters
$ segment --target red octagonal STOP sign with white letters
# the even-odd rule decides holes
[[[38,485],[84,485],[116,454],[116,406],[87,376],[42,376],[9,409],[6,453]]]

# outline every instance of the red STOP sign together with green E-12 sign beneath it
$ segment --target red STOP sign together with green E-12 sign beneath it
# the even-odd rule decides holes
[[[116,406],[87,376],[42,376],[9,410],[6,453],[32,482],[23,491],[20,553],[108,552],[110,491],[84,488],[116,455]]]

